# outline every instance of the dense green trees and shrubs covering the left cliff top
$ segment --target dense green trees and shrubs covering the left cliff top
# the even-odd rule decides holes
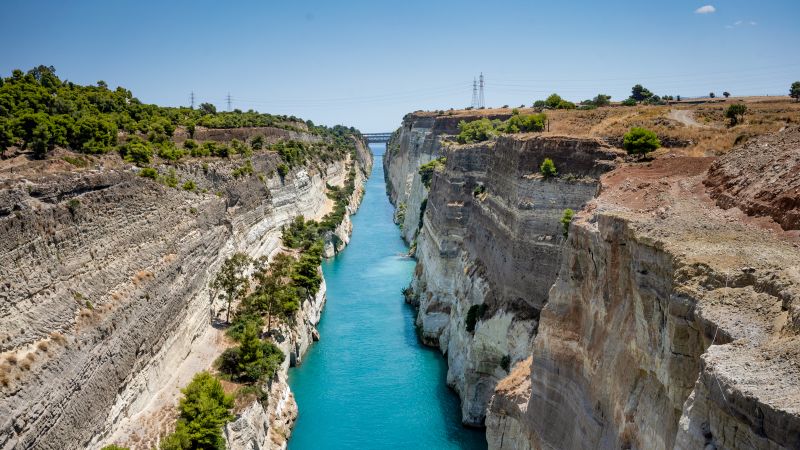
[[[155,152],[171,159],[175,149],[167,142],[179,126],[185,127],[190,137],[197,126],[308,130],[334,147],[349,146],[352,144],[349,137],[360,135],[352,127],[316,126],[293,116],[252,110],[217,112],[208,103],[197,109],[148,105],[131,91],[122,87],[112,90],[103,81],[81,86],[61,80],[52,66],[38,66],[27,73],[14,70],[10,77],[0,78],[0,155],[9,147],[18,147],[41,158],[57,146],[101,154],[115,149],[120,136],[123,140],[139,136],[143,138],[137,144],[140,153]],[[263,138],[258,143],[263,145]]]

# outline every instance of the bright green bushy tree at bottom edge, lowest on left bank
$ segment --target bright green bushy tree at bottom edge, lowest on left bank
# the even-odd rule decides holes
[[[181,389],[179,432],[188,438],[191,449],[225,448],[222,427],[233,420],[233,396],[226,395],[222,384],[208,372],[200,372]],[[182,422],[182,425],[181,425]],[[176,433],[178,434],[178,433]]]

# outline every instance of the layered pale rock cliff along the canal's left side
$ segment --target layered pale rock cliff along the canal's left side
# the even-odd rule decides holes
[[[354,163],[366,168],[371,158],[359,146]],[[227,345],[217,326],[224,305],[208,291],[222,261],[236,251],[278,251],[282,225],[300,214],[321,217],[326,182],[349,171],[344,160],[312,161],[281,178],[277,155],[251,162],[253,174],[244,176],[243,159],[176,165],[175,176],[194,181],[194,191],[140,177],[110,155],[86,169],[50,160],[7,177],[0,448],[155,444],[174,420],[178,388]],[[287,330],[281,345],[293,361],[312,341],[323,303],[324,291]],[[279,406],[291,403],[285,376],[274,384],[284,391],[266,409],[291,417],[285,411],[293,407]]]

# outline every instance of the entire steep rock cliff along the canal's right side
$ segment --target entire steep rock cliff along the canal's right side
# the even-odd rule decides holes
[[[426,205],[407,298],[490,448],[800,446],[794,192],[759,194],[763,177],[736,170],[743,155],[786,167],[794,131],[749,144],[758,156],[651,163],[590,138],[441,133],[428,192],[403,135],[437,120],[407,117],[385,170],[396,205]],[[559,177],[536,174],[543,157]],[[740,205],[767,217],[720,208]]]

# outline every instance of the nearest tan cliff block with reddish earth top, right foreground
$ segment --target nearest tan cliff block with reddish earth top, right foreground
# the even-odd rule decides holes
[[[491,402],[492,448],[800,445],[800,249],[717,208],[711,163],[603,178],[565,243],[530,376]]]

